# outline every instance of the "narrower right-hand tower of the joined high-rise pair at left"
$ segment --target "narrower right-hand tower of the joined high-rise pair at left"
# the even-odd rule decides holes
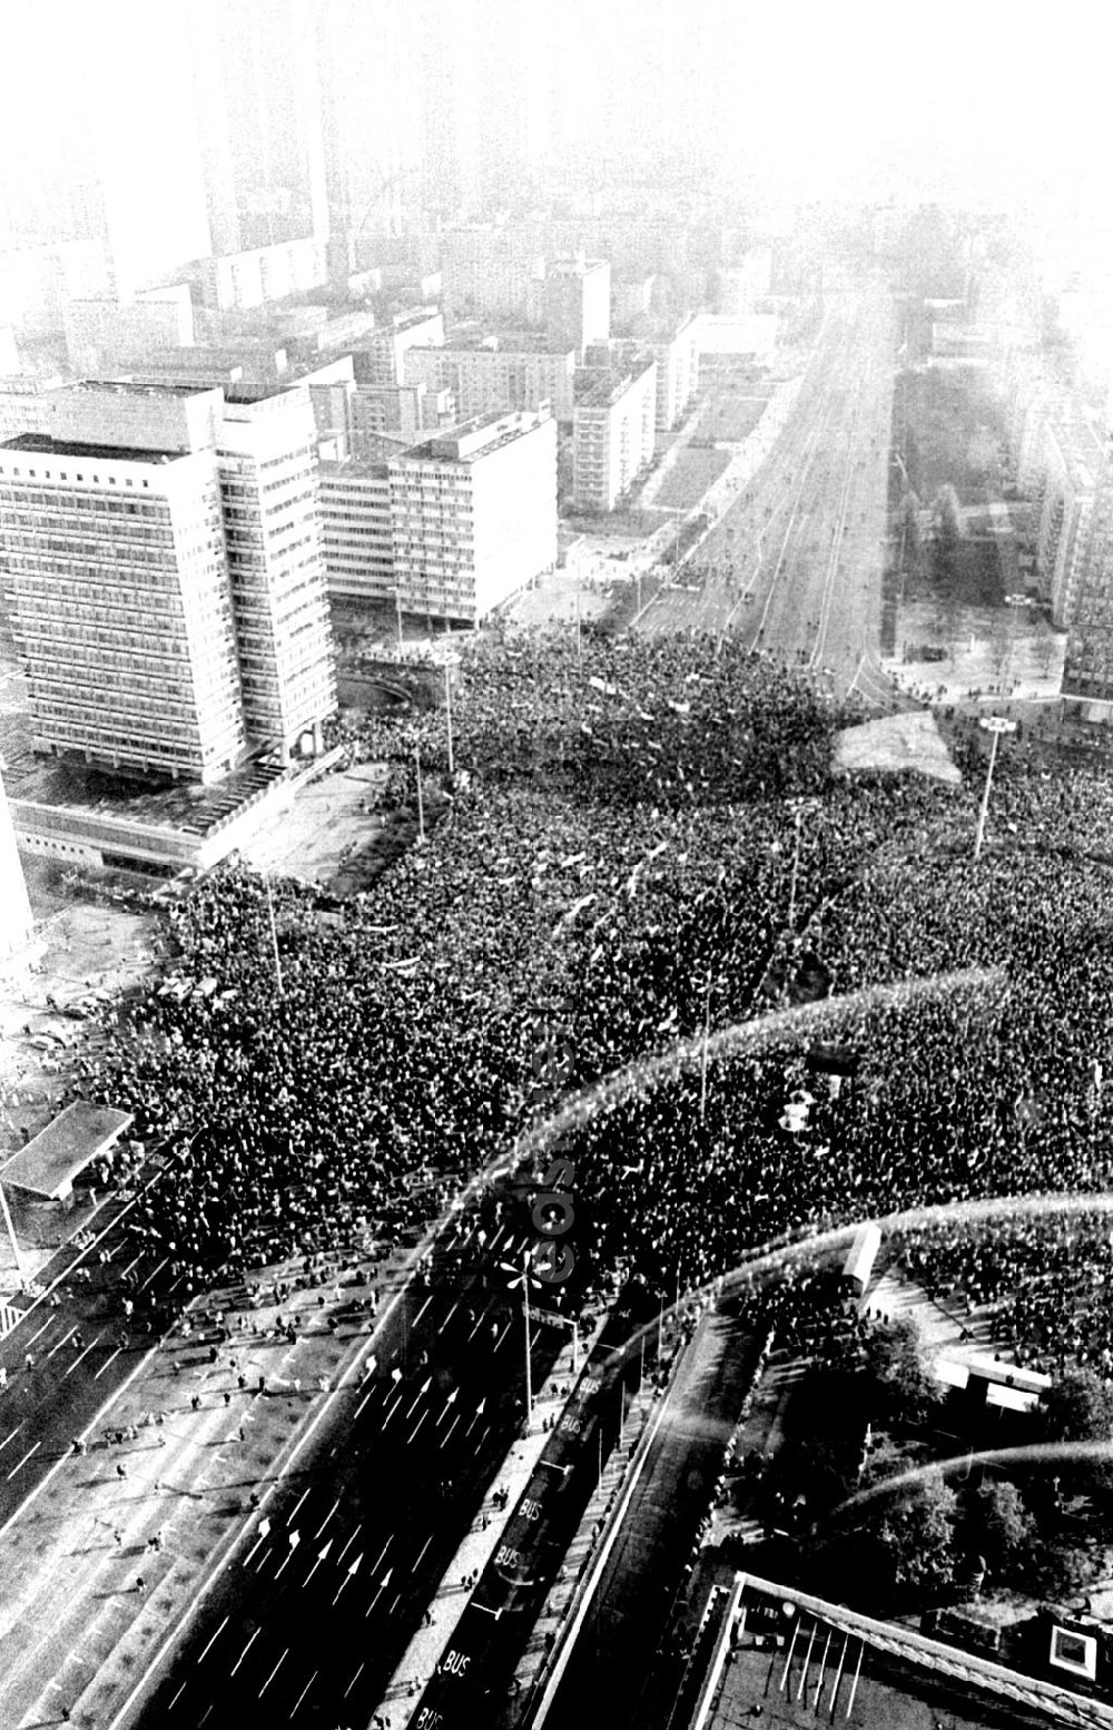
[[[308,389],[225,403],[218,438],[232,614],[254,744],[289,749],[335,709],[316,426]]]

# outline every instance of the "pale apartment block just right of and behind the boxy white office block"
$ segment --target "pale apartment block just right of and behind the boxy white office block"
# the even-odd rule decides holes
[[[576,379],[572,503],[614,510],[645,469],[657,443],[657,362],[641,355],[627,368],[584,367]]]

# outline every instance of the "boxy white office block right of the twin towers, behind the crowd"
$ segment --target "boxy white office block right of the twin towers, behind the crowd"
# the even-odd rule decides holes
[[[391,462],[398,604],[474,623],[556,564],[556,422],[484,415]]]

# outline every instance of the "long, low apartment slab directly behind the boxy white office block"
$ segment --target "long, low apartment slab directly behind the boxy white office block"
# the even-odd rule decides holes
[[[463,420],[499,408],[541,408],[570,424],[576,351],[563,343],[520,336],[491,337],[406,351],[406,381],[430,391],[449,389]]]

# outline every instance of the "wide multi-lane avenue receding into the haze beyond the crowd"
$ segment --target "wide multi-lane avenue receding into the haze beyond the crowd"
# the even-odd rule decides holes
[[[830,298],[795,408],[639,628],[738,631],[880,695],[895,315],[876,277]],[[830,673],[824,673],[830,668]]]

